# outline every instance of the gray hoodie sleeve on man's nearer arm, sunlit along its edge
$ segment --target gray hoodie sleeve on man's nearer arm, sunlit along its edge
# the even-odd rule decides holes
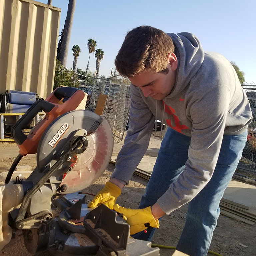
[[[230,98],[226,86],[199,90],[192,96],[187,108],[192,130],[186,168],[157,200],[166,214],[191,201],[211,179],[221,148]]]

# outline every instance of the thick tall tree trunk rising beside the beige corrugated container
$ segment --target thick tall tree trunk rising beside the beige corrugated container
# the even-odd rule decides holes
[[[69,0],[67,17],[65,20],[61,49],[60,49],[60,59],[59,59],[61,64],[64,67],[67,66],[68,47],[69,47],[69,40],[71,36],[71,29],[72,29],[72,23],[74,18],[75,7],[76,7],[76,0]]]

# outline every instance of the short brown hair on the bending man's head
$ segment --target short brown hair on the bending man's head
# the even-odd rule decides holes
[[[142,71],[167,72],[168,55],[174,52],[170,36],[150,26],[129,31],[116,56],[116,70],[124,77],[134,77]]]

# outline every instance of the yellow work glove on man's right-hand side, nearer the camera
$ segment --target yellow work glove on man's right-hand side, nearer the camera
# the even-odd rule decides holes
[[[126,221],[130,225],[131,235],[143,231],[149,226],[159,228],[159,220],[155,220],[153,217],[151,206],[144,209],[130,209],[115,204],[113,209],[127,218]]]

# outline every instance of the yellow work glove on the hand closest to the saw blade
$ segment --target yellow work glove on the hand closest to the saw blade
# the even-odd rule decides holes
[[[121,189],[117,185],[107,181],[105,187],[93,198],[88,204],[88,207],[105,204],[108,208],[113,209],[113,205],[120,195]]]

